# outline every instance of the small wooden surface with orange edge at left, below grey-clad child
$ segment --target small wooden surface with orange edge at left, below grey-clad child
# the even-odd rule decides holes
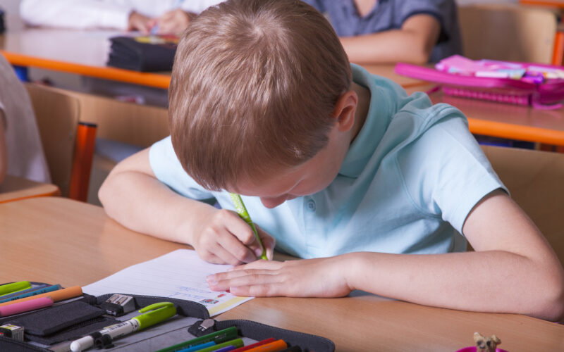
[[[22,177],[6,175],[0,183],[0,203],[39,196],[59,196],[60,193],[59,187],[54,184],[34,182]]]

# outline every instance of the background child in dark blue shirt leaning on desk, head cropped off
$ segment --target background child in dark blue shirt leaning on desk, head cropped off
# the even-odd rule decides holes
[[[324,13],[353,63],[437,62],[462,52],[454,0],[304,0]]]

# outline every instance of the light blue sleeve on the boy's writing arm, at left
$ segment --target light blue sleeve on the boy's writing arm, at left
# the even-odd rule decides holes
[[[151,146],[149,163],[157,180],[166,184],[181,196],[200,201],[214,199],[214,194],[197,184],[180,165],[180,161],[174,153],[170,136]]]

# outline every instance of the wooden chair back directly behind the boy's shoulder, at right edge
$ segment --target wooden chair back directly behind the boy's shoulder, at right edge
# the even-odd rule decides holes
[[[511,197],[564,263],[564,154],[482,146]]]

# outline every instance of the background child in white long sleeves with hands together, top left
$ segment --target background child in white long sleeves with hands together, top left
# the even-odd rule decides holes
[[[220,0],[23,0],[28,25],[138,30],[178,34],[190,19]]]

